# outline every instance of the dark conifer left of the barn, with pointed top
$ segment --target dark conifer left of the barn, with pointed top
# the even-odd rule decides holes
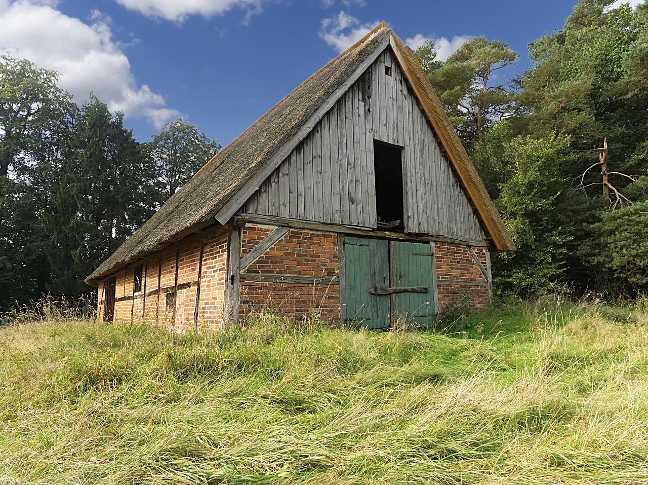
[[[154,212],[154,178],[123,114],[91,96],[65,147],[45,220],[52,293],[75,298],[91,290],[86,276]]]

